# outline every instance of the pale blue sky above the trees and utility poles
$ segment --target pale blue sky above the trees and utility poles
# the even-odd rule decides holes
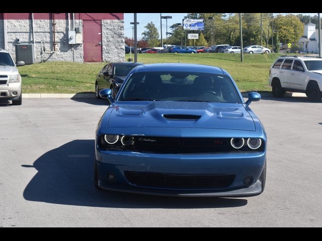
[[[285,15],[286,13],[281,13]],[[298,13],[294,13],[297,15]],[[187,15],[187,13],[162,13],[162,16],[172,16],[172,19],[168,19],[168,32],[170,32],[170,26],[177,23],[182,23],[182,20]],[[274,14],[279,15],[279,14]],[[312,13],[305,13],[303,15],[310,15],[314,16],[317,15]],[[133,13],[127,13],[124,14],[124,35],[125,37],[132,38],[133,31],[132,26],[133,24],[130,24],[131,22],[134,22],[133,19]],[[155,27],[157,28],[159,35],[160,35],[160,14],[159,13],[138,13],[137,14],[137,22],[139,23],[137,25],[137,38],[140,40],[142,38],[142,33],[146,30],[144,26],[148,24],[149,22],[153,22]],[[163,38],[166,38],[166,20],[162,20],[162,33]]]

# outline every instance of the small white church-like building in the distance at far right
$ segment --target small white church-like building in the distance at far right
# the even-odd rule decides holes
[[[298,44],[300,52],[318,54],[318,29],[315,29],[315,24],[304,25],[304,35]]]

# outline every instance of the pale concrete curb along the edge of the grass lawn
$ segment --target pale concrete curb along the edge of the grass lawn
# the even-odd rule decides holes
[[[262,97],[273,97],[272,93],[260,93]],[[245,98],[248,97],[248,93],[241,93],[241,95]],[[75,94],[22,94],[23,98],[95,98],[94,93],[75,93]],[[286,92],[285,97],[306,97],[304,93],[291,93]]]

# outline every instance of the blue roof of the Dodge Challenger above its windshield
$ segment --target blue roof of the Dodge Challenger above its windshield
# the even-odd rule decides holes
[[[180,64],[180,63],[161,63],[161,64],[143,64],[136,68],[135,72],[156,72],[156,71],[176,71],[176,72],[198,72],[224,74],[219,67],[202,64]]]

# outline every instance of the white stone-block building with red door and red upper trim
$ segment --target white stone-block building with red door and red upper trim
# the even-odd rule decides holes
[[[34,62],[124,61],[124,14],[0,13],[0,48],[16,58],[17,44]]]

